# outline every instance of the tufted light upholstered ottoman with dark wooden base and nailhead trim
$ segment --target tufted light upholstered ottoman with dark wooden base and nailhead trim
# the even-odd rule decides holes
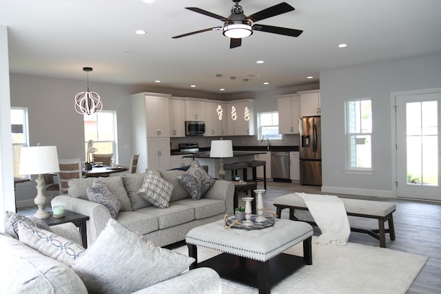
[[[196,259],[190,269],[208,266],[220,277],[250,286],[259,293],[269,293],[272,284],[283,280],[303,264],[312,264],[311,236],[306,222],[276,219],[273,227],[250,230],[224,229],[223,220],[196,227],[187,233],[185,241],[189,256]],[[303,257],[283,253],[303,242]],[[198,262],[197,246],[223,253]]]

